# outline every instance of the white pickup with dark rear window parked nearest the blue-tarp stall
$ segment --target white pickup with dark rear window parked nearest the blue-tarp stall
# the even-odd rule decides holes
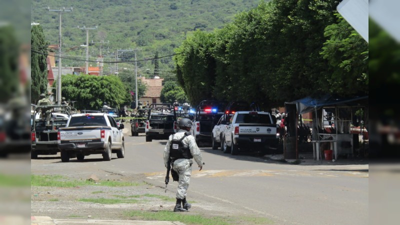
[[[223,129],[221,150],[232,155],[256,151],[260,156],[276,149],[279,133],[268,112],[236,111]]]

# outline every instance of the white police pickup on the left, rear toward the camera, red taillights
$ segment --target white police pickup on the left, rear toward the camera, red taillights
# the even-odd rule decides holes
[[[83,160],[85,155],[102,154],[104,160],[111,160],[111,153],[118,158],[125,154],[123,124],[117,125],[114,118],[106,113],[80,113],[69,117],[66,126],[58,130],[58,148],[61,161],[76,157]]]

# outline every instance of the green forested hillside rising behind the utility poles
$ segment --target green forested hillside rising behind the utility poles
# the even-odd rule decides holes
[[[58,42],[58,12],[48,11],[60,7],[73,7],[72,12],[62,13],[62,50],[65,57],[74,55],[81,60],[86,42],[85,30],[89,30],[89,42],[104,41],[102,54],[105,61],[114,61],[117,49],[137,50],[137,59],[154,58],[173,54],[187,36],[196,30],[212,31],[221,28],[234,14],[258,5],[259,0],[32,0],[31,21],[43,27],[49,43]],[[89,44],[89,60],[96,60],[100,43]],[[73,48],[73,49],[70,49]],[[70,50],[68,50],[70,49]],[[118,58],[134,59],[133,51],[119,52]],[[171,57],[158,60],[155,74],[171,75]],[[90,62],[95,66],[95,62]],[[62,60],[63,66],[84,66],[83,61]],[[115,71],[115,64],[104,63],[104,72]],[[118,64],[118,72],[132,73],[134,64]],[[154,61],[139,61],[139,74],[154,74]]]

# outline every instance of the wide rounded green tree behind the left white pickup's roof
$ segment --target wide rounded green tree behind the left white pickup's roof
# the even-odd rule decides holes
[[[97,110],[106,101],[108,106],[119,108],[130,95],[125,86],[115,75],[63,75],[61,94],[66,99],[76,100],[77,109]]]

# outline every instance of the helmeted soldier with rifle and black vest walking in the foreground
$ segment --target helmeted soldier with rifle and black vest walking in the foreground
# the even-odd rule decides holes
[[[172,169],[179,175],[176,204],[173,211],[187,211],[191,207],[191,204],[186,201],[186,191],[191,176],[192,158],[200,167],[200,170],[204,164],[200,149],[198,149],[194,137],[190,135],[191,125],[190,119],[180,119],[178,122],[179,130],[169,136],[164,148],[165,167],[167,167],[168,159],[171,158]]]

